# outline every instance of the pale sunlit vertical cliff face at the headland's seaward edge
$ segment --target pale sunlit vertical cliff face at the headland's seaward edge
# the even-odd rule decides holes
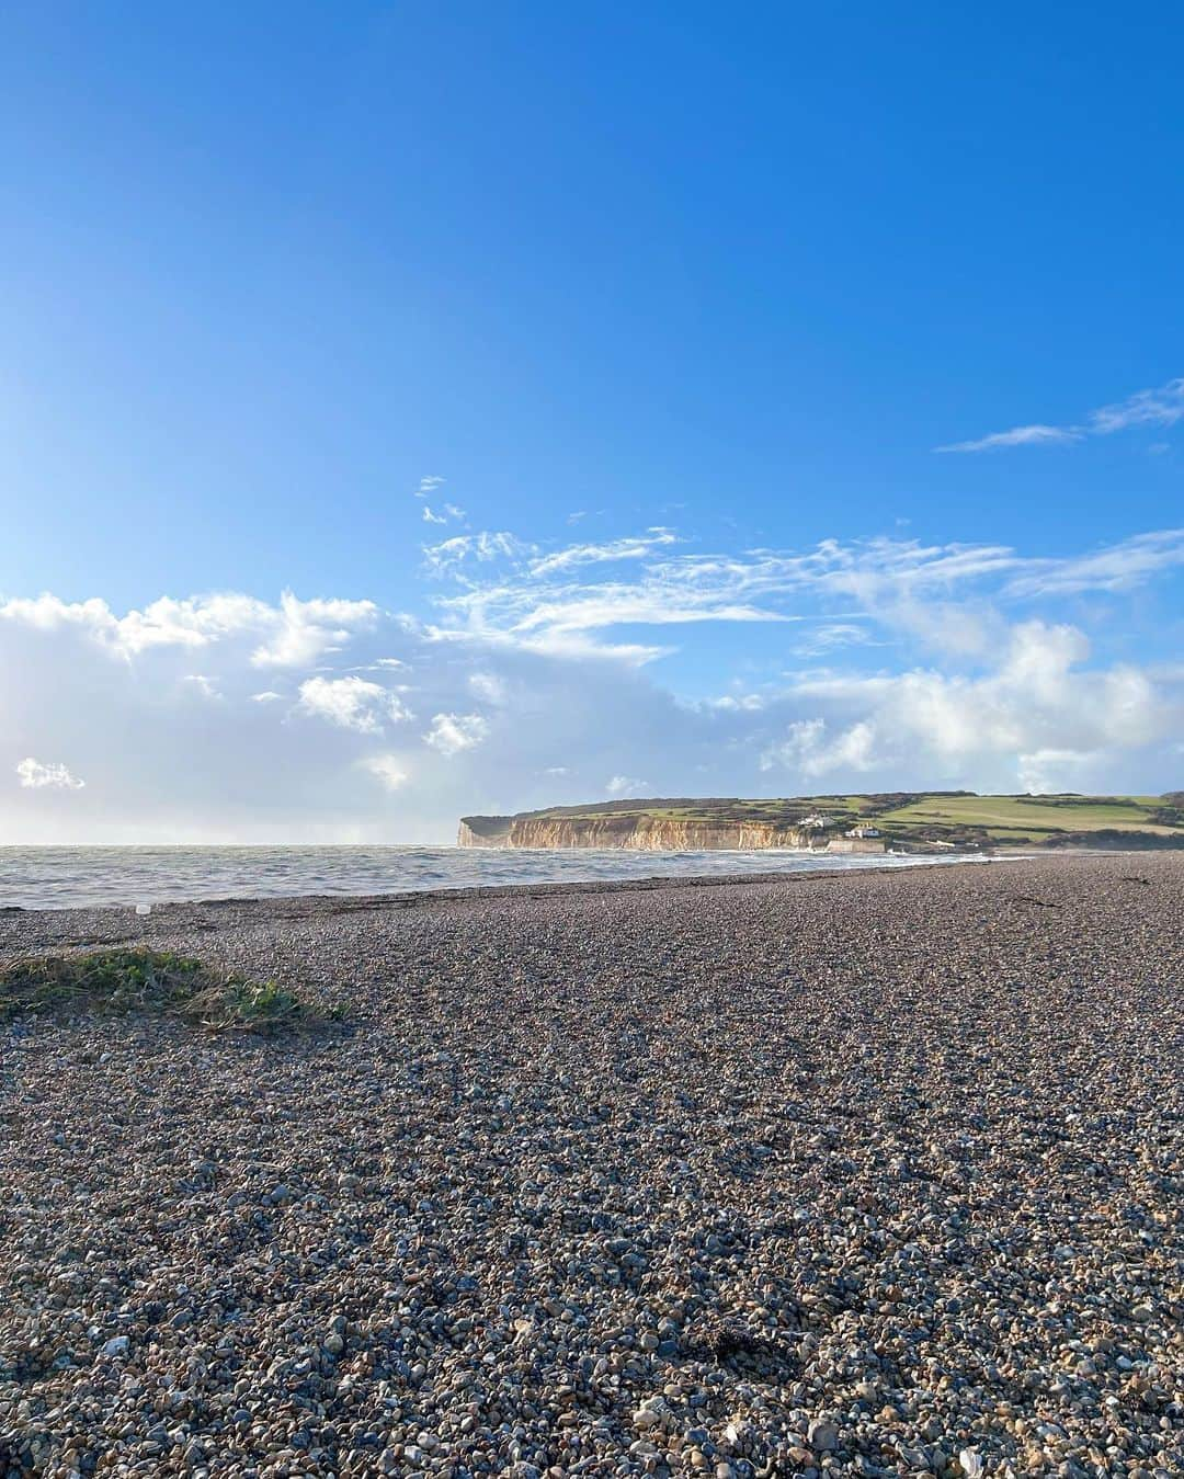
[[[501,825],[491,825],[501,824]],[[696,822],[662,816],[464,818],[460,847],[628,847],[639,852],[822,846],[817,833],[772,822]]]

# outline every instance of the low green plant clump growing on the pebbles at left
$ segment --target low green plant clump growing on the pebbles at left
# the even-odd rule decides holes
[[[318,1013],[275,981],[222,975],[166,950],[96,950],[0,966],[0,1021],[21,1012],[154,1012],[211,1031],[312,1026]]]

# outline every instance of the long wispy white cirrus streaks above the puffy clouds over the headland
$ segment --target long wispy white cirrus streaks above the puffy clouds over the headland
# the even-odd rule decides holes
[[[823,615],[795,643],[804,655],[866,645],[869,623],[974,652],[996,637],[992,612],[981,608],[989,598],[1128,589],[1184,562],[1184,537],[1172,529],[1061,558],[888,537],[733,555],[671,549],[683,543],[671,529],[548,552],[506,532],[445,540],[426,550],[426,561],[435,577],[451,577],[460,589],[433,598],[439,620],[424,630],[436,640],[600,652],[642,664],[668,648],[622,639],[621,629],[817,623]]]

